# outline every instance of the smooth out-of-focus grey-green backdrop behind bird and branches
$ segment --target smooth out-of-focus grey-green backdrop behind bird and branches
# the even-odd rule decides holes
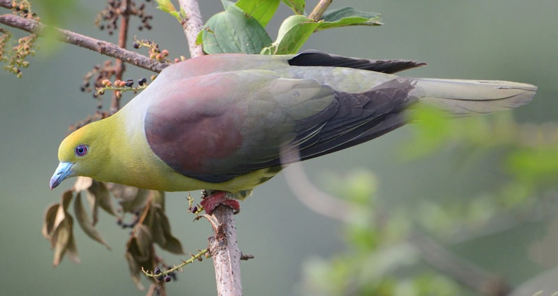
[[[52,1],[37,2],[45,7]],[[103,2],[80,1],[58,21],[65,29],[116,42],[115,36],[107,36],[105,31],[98,31],[93,26]],[[204,20],[223,10],[218,0],[200,2]],[[307,7],[313,7],[316,2],[308,1]],[[369,59],[416,59],[429,63],[427,67],[404,72],[409,76],[501,79],[535,84],[539,87],[535,100],[513,111],[513,117],[520,123],[557,120],[557,1],[347,0],[333,1],[331,8],[342,6],[382,13],[385,24],[374,28],[322,31],[311,36],[303,49]],[[40,15],[44,8],[37,8]],[[130,35],[155,40],[172,56],[187,55],[186,40],[176,20],[154,8],[148,10],[154,15],[153,30],[137,31],[137,20],[133,20]],[[272,39],[276,37],[280,22],[291,13],[286,6],[280,6],[278,15],[266,28]],[[17,32],[15,29],[11,31]],[[104,60],[104,56],[75,46],[47,46],[38,51],[38,56],[29,59],[31,65],[24,70],[23,79],[0,72],[0,258],[3,263],[0,295],[144,295],[130,281],[123,258],[128,230],[116,226],[114,217],[103,212],[97,226],[112,251],[90,240],[75,226],[77,249],[82,260],[79,265],[66,258],[53,269],[50,244],[40,234],[43,210],[58,201],[64,189],[72,186],[71,181],[66,181],[54,192],[50,192],[47,186],[58,162],[59,142],[66,135],[68,125],[96,108],[97,102],[91,94],[79,91],[82,76]],[[138,79],[150,75],[151,72],[128,66],[125,76]],[[125,98],[129,99],[130,95]],[[108,103],[105,102],[105,107]],[[512,112],[506,112],[482,120],[508,123],[506,120],[510,120],[510,116]],[[480,129],[481,133],[490,125],[479,126],[479,121],[475,120],[460,121],[459,128],[467,130],[467,124],[471,124],[473,130]],[[503,131],[506,126],[502,127]],[[555,130],[552,125],[549,128]],[[482,223],[490,221],[490,215],[502,212],[486,210],[486,207],[498,203],[494,200],[505,200],[510,195],[521,198],[517,204],[532,206],[537,198],[555,196],[557,182],[550,180],[544,185],[533,185],[527,180],[527,185],[510,187],[520,178],[513,177],[506,170],[501,157],[505,149],[483,143],[472,144],[460,139],[459,135],[451,136],[451,132],[448,141],[453,139],[450,144],[453,148],[436,149],[428,155],[405,160],[409,158],[408,151],[414,150],[412,145],[422,145],[414,138],[421,134],[415,129],[402,127],[369,143],[305,162],[304,167],[317,185],[340,195],[347,193],[347,190],[340,190],[347,184],[332,180],[345,178],[354,171],[371,171],[373,177],[366,178],[377,178],[377,192],[373,201],[366,199],[365,204],[381,204],[387,214],[401,211],[403,214],[397,219],[407,223],[414,223],[416,216],[416,221],[421,221],[418,223],[423,223],[421,227],[427,230],[451,225],[454,219],[461,219],[462,212],[446,211],[446,205],[467,207],[476,201],[475,206],[481,208],[480,214],[475,214],[481,217],[473,219],[479,225],[478,231],[465,231],[466,239],[448,240],[444,244],[458,256],[502,276],[513,286],[529,282],[558,263],[558,254],[552,251],[558,247],[558,237],[549,228],[552,215],[547,217],[543,210],[529,216],[532,219],[527,222],[508,223],[511,226],[502,228],[505,231],[500,229],[492,234],[479,231],[490,226],[490,223]],[[534,137],[533,141],[537,139]],[[549,162],[555,159],[551,157]],[[339,254],[354,248],[352,244],[358,244],[351,240],[354,229],[303,206],[287,188],[286,173],[289,169],[258,187],[253,196],[242,203],[242,212],[236,216],[241,250],[256,257],[242,263],[244,295],[330,295],[312,288],[335,272],[318,265],[326,265],[329,258],[338,258]],[[523,195],[528,196],[519,194],[517,197],[516,193],[522,190],[526,192]],[[173,233],[183,242],[185,250],[195,252],[205,247],[206,237],[211,233],[209,224],[192,221],[193,216],[186,213],[184,193],[167,196],[167,215]],[[198,197],[199,193],[193,192],[193,196]],[[506,207],[513,208],[511,205],[502,206]],[[445,218],[439,218],[442,216]],[[433,235],[442,240],[441,237],[447,237],[444,236],[447,232],[447,229],[434,231]],[[550,251],[543,251],[544,248],[540,247],[543,242],[550,246]],[[159,254],[169,263],[179,262],[178,256]],[[389,270],[389,273],[422,272],[425,269],[420,263],[414,266],[397,272]],[[320,268],[326,273],[323,276],[319,275]],[[435,270],[429,272],[436,273]],[[170,295],[215,294],[211,260],[195,263],[178,276],[179,281],[167,285]],[[312,276],[318,279],[312,279]],[[533,295],[543,289],[548,293],[552,288],[545,286],[547,284],[535,282],[526,288],[527,292],[519,295]],[[437,285],[442,286],[442,283]],[[455,291],[453,288],[447,290]],[[555,288],[548,295],[557,290]],[[400,287],[399,291],[405,291],[405,288]],[[443,288],[439,290],[442,295],[444,291]],[[458,291],[457,294],[476,295],[472,290]]]

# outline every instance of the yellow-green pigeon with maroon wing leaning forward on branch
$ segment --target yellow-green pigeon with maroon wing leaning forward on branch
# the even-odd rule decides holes
[[[169,66],[116,114],[64,139],[51,189],[73,176],[168,192],[211,189],[240,196],[299,160],[395,130],[416,103],[458,116],[511,109],[536,86],[508,81],[398,77],[425,63],[323,52],[216,54]]]

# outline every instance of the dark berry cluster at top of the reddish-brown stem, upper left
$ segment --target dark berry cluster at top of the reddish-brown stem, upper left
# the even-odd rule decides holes
[[[140,18],[142,24],[138,26],[138,30],[148,29],[151,30],[151,24],[149,21],[153,19],[153,15],[147,15],[145,13],[145,3],[137,6],[134,1],[130,1],[130,6],[126,8],[126,11],[121,10],[122,1],[126,0],[109,0],[107,7],[98,13],[95,19],[95,25],[100,29],[107,29],[109,35],[114,33],[114,30],[118,29],[118,19],[121,15],[126,13],[126,15],[135,15]],[[149,2],[149,0],[146,0]]]

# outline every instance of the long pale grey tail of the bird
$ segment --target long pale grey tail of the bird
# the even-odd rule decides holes
[[[533,100],[536,86],[511,81],[409,78],[411,95],[455,116],[488,114],[512,109]]]

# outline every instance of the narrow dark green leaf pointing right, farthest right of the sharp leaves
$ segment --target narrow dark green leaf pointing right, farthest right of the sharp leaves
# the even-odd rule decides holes
[[[316,31],[338,28],[340,26],[379,26],[382,24],[382,15],[379,13],[367,13],[352,7],[339,8],[322,16],[324,22],[320,22]]]

